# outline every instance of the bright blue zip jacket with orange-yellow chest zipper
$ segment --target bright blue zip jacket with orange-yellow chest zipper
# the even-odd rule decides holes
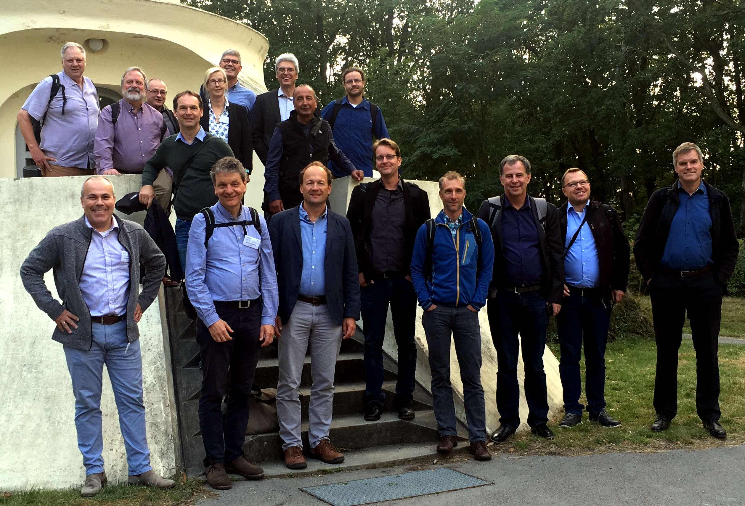
[[[470,229],[472,214],[463,207],[462,223],[455,234],[450,232],[445,211],[434,218],[432,276],[425,279],[427,257],[427,224],[419,227],[411,258],[411,281],[419,306],[425,311],[432,304],[468,306],[481,309],[489,293],[494,265],[494,243],[489,226],[478,219],[481,247]]]

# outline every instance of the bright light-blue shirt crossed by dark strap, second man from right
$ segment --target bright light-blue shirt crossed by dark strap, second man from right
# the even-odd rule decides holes
[[[577,232],[577,227],[587,215],[588,199],[582,209],[582,213],[574,210],[571,204],[566,206],[566,239],[564,247]],[[577,234],[577,239],[571,245],[564,256],[564,271],[566,273],[566,284],[579,288],[595,288],[600,282],[600,259],[597,258],[597,246],[595,237],[590,230],[590,224],[585,222]]]

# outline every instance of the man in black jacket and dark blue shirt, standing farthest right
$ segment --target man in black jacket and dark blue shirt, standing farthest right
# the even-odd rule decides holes
[[[636,266],[647,281],[657,342],[653,431],[664,431],[677,412],[678,350],[685,314],[696,350],[696,411],[709,434],[725,439],[719,424],[717,347],[722,294],[738,257],[729,200],[701,177],[703,156],[692,142],[673,151],[678,180],[652,194],[634,241]]]

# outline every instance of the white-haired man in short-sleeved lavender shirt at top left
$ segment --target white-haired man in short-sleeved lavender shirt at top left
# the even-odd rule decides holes
[[[93,174],[98,93],[92,80],[83,76],[83,46],[67,42],[60,54],[62,72],[34,88],[18,113],[18,125],[42,176]]]

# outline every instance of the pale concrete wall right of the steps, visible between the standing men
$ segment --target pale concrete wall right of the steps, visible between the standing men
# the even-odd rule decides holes
[[[372,181],[365,179],[364,181]],[[437,183],[432,181],[414,181],[420,188],[424,189],[429,197],[430,214],[436,216],[442,209],[443,203],[438,195]],[[332,193],[329,197],[332,209],[346,209],[349,204],[349,197],[352,195],[352,189],[358,183],[351,180],[350,177],[343,177],[335,180],[332,186]],[[492,344],[491,330],[489,329],[489,319],[486,317],[486,307],[479,312],[479,322],[481,323],[481,384],[484,386],[484,396],[486,398],[486,428],[491,433],[499,427],[499,412],[497,411],[497,351]],[[364,325],[364,323],[361,323]],[[416,381],[419,382],[428,391],[430,389],[431,373],[429,369],[427,338],[422,327],[422,308],[416,308],[416,347],[419,350],[416,364]],[[391,320],[390,311],[388,312],[387,331],[383,343],[383,349],[394,360],[398,356],[396,347],[396,338],[393,337],[393,321]],[[562,386],[559,378],[559,362],[551,350],[546,347],[543,354],[543,364],[546,372],[546,384],[548,389],[548,418],[555,417],[562,410],[564,404],[562,400]],[[458,366],[455,355],[455,345],[451,344],[450,352],[450,371],[451,382],[454,390],[455,410],[458,418],[466,423],[466,413],[463,410],[463,382],[460,381],[460,367]],[[524,393],[525,372],[522,363],[522,356],[518,361],[518,380],[520,384],[520,419],[522,423],[519,430],[526,430],[527,426],[527,402]]]

